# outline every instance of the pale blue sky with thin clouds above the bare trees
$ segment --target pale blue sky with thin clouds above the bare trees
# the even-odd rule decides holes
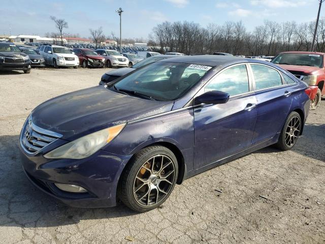
[[[324,16],[325,3],[320,16]],[[205,26],[242,20],[248,31],[265,19],[278,22],[311,21],[316,18],[318,0],[29,0],[3,1],[0,8],[0,33],[44,36],[54,32],[50,15],[64,18],[64,32],[89,37],[89,28],[103,26],[105,34],[119,35],[121,7],[122,38],[147,38],[152,27],[163,21],[194,21]]]

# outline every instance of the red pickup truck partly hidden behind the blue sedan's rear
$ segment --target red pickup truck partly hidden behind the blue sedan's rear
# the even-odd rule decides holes
[[[310,109],[319,107],[321,96],[325,95],[325,53],[281,52],[272,63],[305,81],[310,88]]]

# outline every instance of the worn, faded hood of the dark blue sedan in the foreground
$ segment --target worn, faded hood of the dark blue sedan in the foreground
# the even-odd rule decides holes
[[[113,92],[103,85],[48,100],[32,113],[37,126],[62,134],[62,139],[80,136],[171,111],[173,102],[152,101]]]

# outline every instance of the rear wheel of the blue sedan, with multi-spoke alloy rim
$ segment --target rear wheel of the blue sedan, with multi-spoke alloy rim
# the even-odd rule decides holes
[[[301,128],[302,121],[299,113],[291,112],[284,123],[279,140],[275,146],[281,150],[293,148],[298,141]]]

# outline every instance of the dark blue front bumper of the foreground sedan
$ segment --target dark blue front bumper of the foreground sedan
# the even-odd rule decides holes
[[[61,143],[62,141],[59,142]],[[26,176],[46,194],[72,207],[116,205],[118,179],[131,156],[119,156],[99,150],[86,159],[49,160],[43,157],[42,152],[29,156],[21,143],[19,147]],[[85,188],[87,193],[65,192],[54,183],[78,185]]]

